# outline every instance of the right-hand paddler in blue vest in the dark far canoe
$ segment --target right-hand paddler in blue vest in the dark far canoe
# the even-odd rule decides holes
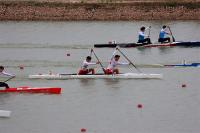
[[[166,34],[167,35],[171,35],[170,33],[167,32],[167,26],[163,25],[162,29],[160,30],[158,42],[160,42],[160,43],[168,43],[168,42],[170,42],[170,38],[169,37],[165,37]]]

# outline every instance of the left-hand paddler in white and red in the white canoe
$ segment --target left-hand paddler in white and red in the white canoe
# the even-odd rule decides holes
[[[83,61],[83,64],[81,66],[81,69],[79,70],[79,75],[86,75],[92,72],[92,74],[95,74],[94,68],[88,68],[90,65],[96,65],[99,64],[99,62],[91,62],[92,57],[87,56],[86,59]]]

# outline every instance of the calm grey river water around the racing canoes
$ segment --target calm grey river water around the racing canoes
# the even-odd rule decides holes
[[[94,43],[136,42],[142,25],[152,26],[156,42],[163,24],[170,25],[178,41],[200,41],[199,21],[0,22],[0,65],[16,74],[9,85],[62,88],[61,95],[0,94],[0,109],[12,111],[10,118],[0,118],[0,132],[79,133],[85,128],[88,133],[198,133],[200,68],[156,64],[200,62],[200,48],[121,49],[141,71],[162,73],[162,80],[28,79],[49,71],[76,73]],[[94,50],[107,65],[113,49]]]

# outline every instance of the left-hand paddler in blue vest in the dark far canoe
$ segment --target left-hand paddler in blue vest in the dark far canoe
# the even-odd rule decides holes
[[[146,30],[146,28],[144,26],[142,26],[140,28],[140,32],[139,32],[139,35],[138,35],[138,43],[152,44],[151,39],[149,38],[149,35],[145,35],[145,30]]]

